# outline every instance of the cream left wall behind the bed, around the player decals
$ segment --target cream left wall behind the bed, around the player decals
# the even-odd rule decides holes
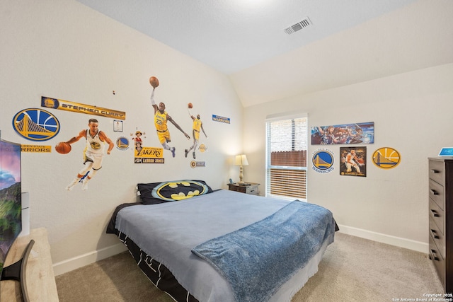
[[[2,139],[21,144],[55,146],[86,129],[91,115],[47,109],[61,130],[49,141],[29,141],[12,127],[13,116],[40,108],[41,96],[126,112],[124,132],[113,132],[113,119],[97,117],[99,128],[115,141],[138,129],[144,146],[160,147],[149,102],[149,76],[158,76],[156,100],[191,136],[192,120],[185,110],[194,104],[209,136],[201,135],[206,153],[197,153],[205,168],[190,168],[183,150],[192,144],[172,124],[169,129],[177,156],[166,151],[165,164],[137,165],[132,149],[113,149],[89,183],[73,191],[66,185],[82,168],[84,142],[67,155],[22,153],[22,187],[30,194],[30,227],[49,232],[55,273],[117,252],[119,241],[105,234],[118,204],[134,202],[137,182],[180,178],[203,179],[213,189],[238,178],[232,158],[241,152],[242,106],[226,76],[72,0],[1,0],[0,130]],[[112,91],[115,91],[113,95]],[[45,109],[45,108],[42,108]],[[213,122],[212,115],[231,118]],[[130,137],[132,138],[132,137]],[[71,266],[72,265],[72,266]],[[75,267],[74,267],[75,265]]]

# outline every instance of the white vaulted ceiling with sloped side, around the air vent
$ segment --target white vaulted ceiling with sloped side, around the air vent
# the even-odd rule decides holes
[[[453,62],[452,0],[76,1],[228,75],[244,106]]]

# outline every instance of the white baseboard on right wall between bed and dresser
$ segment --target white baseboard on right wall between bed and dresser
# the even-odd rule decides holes
[[[361,228],[353,228],[351,226],[342,226],[340,224],[338,225],[338,227],[340,228],[340,233],[345,233],[348,235],[365,238],[380,243],[386,243],[389,245],[395,245],[400,248],[407,248],[409,250],[415,250],[417,252],[428,254],[428,243],[367,231]]]

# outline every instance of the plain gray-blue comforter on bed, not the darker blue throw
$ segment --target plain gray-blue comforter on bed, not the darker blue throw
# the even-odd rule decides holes
[[[180,202],[127,207],[117,214],[115,227],[166,265],[199,301],[229,302],[235,301],[229,281],[191,250],[261,221],[287,204],[282,199],[220,190]]]

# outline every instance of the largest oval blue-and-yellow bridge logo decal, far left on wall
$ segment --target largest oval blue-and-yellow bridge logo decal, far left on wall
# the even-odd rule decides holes
[[[59,122],[55,115],[46,110],[29,108],[13,117],[13,128],[25,139],[47,141],[58,134]]]

